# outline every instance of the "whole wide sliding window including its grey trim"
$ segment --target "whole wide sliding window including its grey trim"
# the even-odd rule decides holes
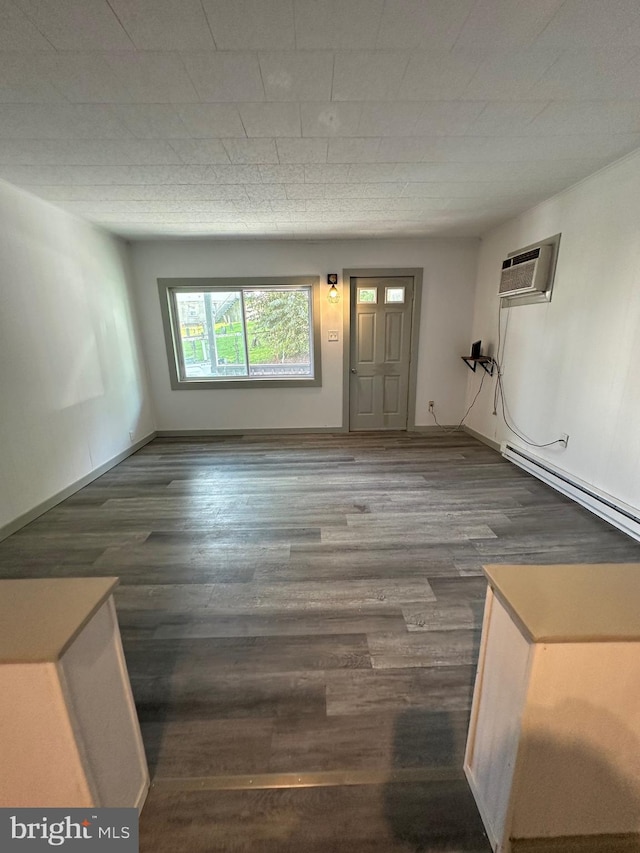
[[[158,279],[172,387],[320,385],[319,283]]]

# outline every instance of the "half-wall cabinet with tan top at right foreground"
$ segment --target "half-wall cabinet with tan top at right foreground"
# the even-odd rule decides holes
[[[465,773],[499,853],[640,850],[640,566],[487,566]]]

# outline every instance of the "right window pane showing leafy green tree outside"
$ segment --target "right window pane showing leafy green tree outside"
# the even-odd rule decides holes
[[[249,375],[313,376],[311,288],[244,290]]]

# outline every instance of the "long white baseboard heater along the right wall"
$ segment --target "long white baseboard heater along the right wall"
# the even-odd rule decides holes
[[[569,476],[566,471],[554,468],[546,460],[541,462],[533,456],[524,453],[519,447],[502,442],[500,451],[505,459],[513,462],[519,468],[542,480],[563,495],[582,504],[583,507],[604,518],[623,533],[632,536],[640,542],[640,516],[638,511],[627,504],[617,501],[612,495],[600,492],[586,483]]]

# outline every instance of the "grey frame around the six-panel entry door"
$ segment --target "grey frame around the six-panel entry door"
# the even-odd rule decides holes
[[[342,431],[350,431],[350,371],[351,371],[351,279],[352,278],[413,278],[413,307],[411,309],[411,349],[409,356],[409,396],[407,399],[407,432],[416,429],[416,390],[418,387],[418,344],[422,306],[422,267],[358,267],[342,270]]]

